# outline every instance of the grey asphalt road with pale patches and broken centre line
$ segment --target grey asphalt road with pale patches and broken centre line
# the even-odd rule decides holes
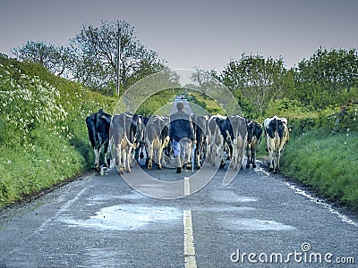
[[[146,181],[141,191],[183,190],[175,199],[143,195],[115,169],[90,172],[1,212],[0,267],[356,267],[354,218],[265,170],[243,170],[227,186],[219,170],[194,193],[195,181],[183,180],[192,171],[149,171],[169,186]]]

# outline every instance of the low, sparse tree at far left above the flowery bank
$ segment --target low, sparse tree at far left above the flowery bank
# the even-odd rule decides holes
[[[21,61],[40,63],[48,71],[65,78],[71,76],[73,54],[69,47],[28,41],[22,47],[13,48],[12,52]]]

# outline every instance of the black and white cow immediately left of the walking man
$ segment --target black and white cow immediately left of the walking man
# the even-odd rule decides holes
[[[144,141],[147,153],[147,168],[153,166],[153,160],[158,164],[158,170],[163,168],[163,150],[168,146],[169,137],[169,117],[152,115],[144,130]],[[165,163],[163,163],[165,164]]]

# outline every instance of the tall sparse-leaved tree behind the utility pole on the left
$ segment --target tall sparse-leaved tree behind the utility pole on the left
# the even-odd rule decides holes
[[[150,73],[167,69],[158,54],[136,40],[134,28],[125,21],[102,21],[100,27],[82,26],[71,40],[78,57],[74,70],[77,80],[90,88],[109,94],[115,85],[116,43],[120,36],[121,85],[129,88]]]

